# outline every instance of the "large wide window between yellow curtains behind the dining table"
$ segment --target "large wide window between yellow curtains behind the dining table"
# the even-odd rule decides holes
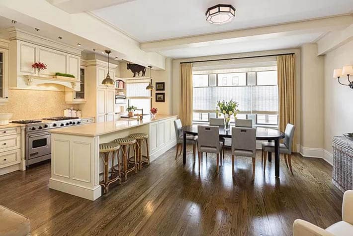
[[[253,119],[258,125],[277,126],[277,71],[275,67],[261,69],[264,70],[247,68],[245,72],[193,75],[196,79],[193,81],[193,121],[208,122],[209,118],[215,117],[217,101],[233,99],[239,103],[237,118]],[[210,86],[211,76],[216,79],[215,86]]]

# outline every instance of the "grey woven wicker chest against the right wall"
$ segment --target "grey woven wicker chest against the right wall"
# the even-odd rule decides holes
[[[353,190],[353,141],[334,136],[332,182],[342,192]]]

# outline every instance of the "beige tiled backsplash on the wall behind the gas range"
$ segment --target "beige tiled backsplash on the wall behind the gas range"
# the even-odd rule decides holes
[[[8,103],[0,105],[0,113],[12,113],[12,120],[48,118],[63,116],[70,107],[79,109],[79,105],[65,103],[64,92],[9,89]]]

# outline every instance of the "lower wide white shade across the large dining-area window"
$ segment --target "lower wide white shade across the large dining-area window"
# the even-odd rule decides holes
[[[239,103],[241,113],[278,114],[277,85],[193,88],[193,110],[197,113],[213,113],[217,101],[231,99]]]

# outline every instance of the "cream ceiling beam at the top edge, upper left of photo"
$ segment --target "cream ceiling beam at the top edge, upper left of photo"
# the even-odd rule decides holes
[[[47,0],[54,6],[72,14],[96,10],[134,0]]]

